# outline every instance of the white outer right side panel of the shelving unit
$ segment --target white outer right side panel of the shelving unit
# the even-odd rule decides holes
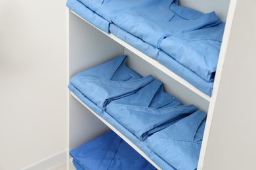
[[[221,50],[198,169],[255,169],[255,7],[256,1],[230,2],[228,43]]]

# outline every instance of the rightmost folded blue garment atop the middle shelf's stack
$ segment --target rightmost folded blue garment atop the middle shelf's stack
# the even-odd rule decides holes
[[[175,169],[197,169],[205,116],[198,110],[154,133],[148,137],[148,147]]]

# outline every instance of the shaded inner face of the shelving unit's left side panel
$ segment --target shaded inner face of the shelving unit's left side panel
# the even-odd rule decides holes
[[[69,78],[123,54],[123,46],[69,12]],[[70,150],[108,131],[98,118],[69,96]]]

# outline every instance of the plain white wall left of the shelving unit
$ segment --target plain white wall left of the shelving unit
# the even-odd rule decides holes
[[[0,0],[0,169],[66,148],[63,0]]]

